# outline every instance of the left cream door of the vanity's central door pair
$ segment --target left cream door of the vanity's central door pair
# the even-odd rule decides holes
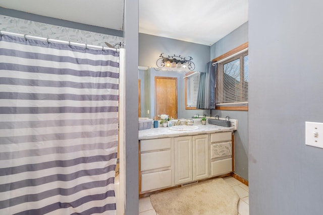
[[[175,152],[175,184],[191,182],[192,177],[192,137],[180,136],[174,138]]]

